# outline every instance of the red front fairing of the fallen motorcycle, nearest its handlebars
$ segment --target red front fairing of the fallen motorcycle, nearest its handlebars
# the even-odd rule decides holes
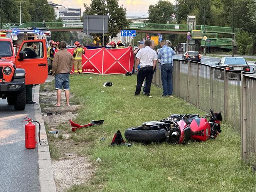
[[[205,118],[196,118],[190,123],[192,139],[206,141],[211,133],[210,123]]]

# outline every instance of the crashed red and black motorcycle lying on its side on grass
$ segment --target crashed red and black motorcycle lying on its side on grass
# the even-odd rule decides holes
[[[125,131],[125,138],[135,142],[168,141],[188,143],[215,139],[221,133],[221,112],[200,117],[198,114],[173,114],[160,121],[148,121]],[[209,120],[207,120],[209,118]]]

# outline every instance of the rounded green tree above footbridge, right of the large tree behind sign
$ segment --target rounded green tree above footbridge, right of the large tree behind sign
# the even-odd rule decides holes
[[[148,8],[148,23],[166,24],[172,20],[174,6],[172,3],[160,0],[155,5],[149,5]]]

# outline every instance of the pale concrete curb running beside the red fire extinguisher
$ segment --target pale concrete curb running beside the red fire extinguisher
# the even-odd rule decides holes
[[[36,102],[34,104],[35,120],[38,121],[41,125],[40,139],[42,145],[37,145],[40,192],[56,192],[49,145],[45,131],[44,120],[42,118],[41,107],[39,104],[39,91],[40,84],[35,86],[34,91],[34,101]],[[39,126],[37,126],[37,131],[38,130]]]

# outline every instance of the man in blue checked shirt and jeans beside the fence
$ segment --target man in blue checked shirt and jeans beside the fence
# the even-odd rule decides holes
[[[161,40],[160,44],[162,48],[159,49],[157,58],[161,63],[162,97],[172,98],[172,56],[175,55],[175,52],[166,45],[165,40]]]

